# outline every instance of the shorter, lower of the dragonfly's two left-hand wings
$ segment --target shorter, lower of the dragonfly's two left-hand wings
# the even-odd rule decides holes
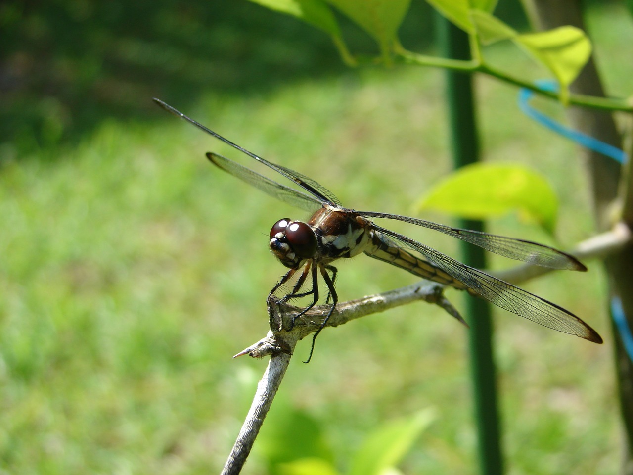
[[[213,165],[216,165],[216,167],[222,168],[225,172],[228,172],[234,177],[247,182],[249,185],[260,189],[273,198],[277,198],[277,200],[284,201],[284,203],[297,206],[302,210],[310,212],[315,212],[315,210],[322,206],[321,201],[317,200],[314,196],[301,193],[301,191],[294,188],[274,182],[263,175],[253,172],[250,168],[243,167],[239,163],[229,160],[222,155],[207,153],[206,156]]]

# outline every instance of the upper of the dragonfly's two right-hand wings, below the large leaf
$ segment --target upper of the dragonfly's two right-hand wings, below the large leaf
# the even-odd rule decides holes
[[[423,219],[415,219],[408,216],[392,215],[388,213],[357,212],[366,218],[386,218],[408,222],[429,229],[434,229],[453,238],[461,239],[470,244],[475,244],[492,253],[509,257],[511,259],[522,260],[524,262],[549,267],[550,269],[587,270],[577,258],[559,251],[544,244],[525,241],[524,239],[508,238],[497,236],[482,231],[472,231],[470,229],[460,229],[443,224],[437,224]]]

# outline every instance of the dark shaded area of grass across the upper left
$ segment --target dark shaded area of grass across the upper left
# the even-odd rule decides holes
[[[429,13],[412,8],[408,46],[429,39]],[[9,2],[0,24],[0,146],[16,156],[75,143],[106,117],[156,117],[153,96],[186,110],[204,92],[260,94],[346,70],[327,35],[248,1]],[[351,23],[344,35],[375,53]]]

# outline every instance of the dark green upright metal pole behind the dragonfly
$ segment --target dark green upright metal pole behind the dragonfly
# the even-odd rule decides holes
[[[469,60],[468,35],[446,18],[439,16],[437,30],[443,53],[448,58]],[[446,84],[451,126],[451,153],[454,168],[479,160],[477,123],[473,99],[472,77],[448,71]],[[461,227],[483,231],[480,221],[461,220]],[[463,243],[465,244],[465,243]],[[463,262],[479,269],[486,267],[484,251],[465,244]],[[492,355],[491,309],[487,301],[469,298],[467,320],[470,324],[470,371],[473,381],[475,417],[479,445],[479,469],[482,475],[501,475],[501,435],[497,409],[496,370]]]

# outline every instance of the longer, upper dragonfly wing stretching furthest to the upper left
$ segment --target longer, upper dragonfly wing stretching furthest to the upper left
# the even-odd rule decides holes
[[[266,165],[266,167],[272,168],[273,170],[275,170],[275,172],[280,173],[284,175],[284,177],[286,177],[287,179],[294,181],[296,184],[301,186],[304,190],[308,191],[308,193],[315,196],[315,198],[318,198],[321,204],[327,203],[329,205],[341,208],[341,203],[339,203],[339,200],[337,200],[336,196],[334,196],[334,193],[332,193],[331,191],[329,191],[329,189],[317,183],[313,179],[306,177],[305,175],[302,175],[298,172],[295,172],[294,170],[291,170],[290,168],[282,167],[281,165],[276,165],[275,163],[268,162],[268,160],[261,158],[261,156],[255,155],[253,152],[250,152],[247,149],[242,148],[241,146],[231,142],[229,139],[225,139],[220,134],[217,134],[216,132],[213,132],[213,130],[208,129],[208,127],[204,127],[204,125],[200,124],[199,122],[196,122],[190,117],[187,117],[182,112],[180,112],[179,110],[176,110],[175,108],[168,105],[167,103],[164,103],[160,99],[154,98],[154,102],[158,104],[159,106],[161,106],[166,111],[172,113],[173,115],[180,118],[184,118],[184,120],[189,122],[189,124],[195,125],[198,129],[203,130],[207,134],[210,134],[216,139],[221,140],[223,143],[230,145],[233,148],[238,149],[242,153],[246,153],[246,155],[248,155],[251,158],[254,158],[258,162],[263,163],[264,165]],[[217,156],[220,156],[220,155],[217,155]],[[225,160],[227,159],[225,158]],[[249,182],[249,183],[253,184],[252,182]]]

